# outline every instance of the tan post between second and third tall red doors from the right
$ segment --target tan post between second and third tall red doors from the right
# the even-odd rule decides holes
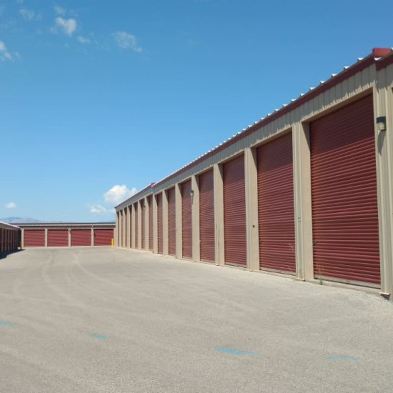
[[[244,150],[246,183],[247,269],[259,270],[258,169],[256,150]]]

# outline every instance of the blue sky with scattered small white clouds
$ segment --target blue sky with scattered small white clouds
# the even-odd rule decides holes
[[[112,220],[133,190],[392,47],[392,17],[388,0],[0,0],[0,217]]]

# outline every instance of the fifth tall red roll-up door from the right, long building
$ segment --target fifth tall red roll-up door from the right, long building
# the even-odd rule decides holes
[[[182,224],[182,244],[183,258],[193,257],[193,220],[191,204],[191,180],[181,185],[181,224]]]

